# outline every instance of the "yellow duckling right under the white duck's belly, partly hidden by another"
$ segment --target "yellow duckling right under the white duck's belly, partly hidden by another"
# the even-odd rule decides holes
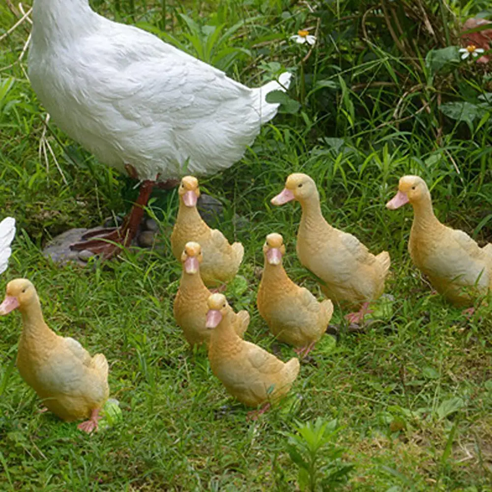
[[[196,203],[200,196],[198,180],[185,176],[178,190],[180,206],[171,234],[171,248],[176,259],[181,258],[184,246],[194,241],[202,247],[203,262],[200,275],[205,285],[216,287],[232,280],[243,261],[244,247],[241,243],[229,244],[217,229],[211,229],[202,219]]]

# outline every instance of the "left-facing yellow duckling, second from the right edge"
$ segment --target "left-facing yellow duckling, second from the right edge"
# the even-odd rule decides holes
[[[387,251],[374,256],[355,236],[332,227],[323,217],[316,184],[306,174],[291,174],[273,205],[297,200],[302,207],[297,232],[297,255],[301,263],[325,282],[321,290],[333,302],[362,305],[347,319],[359,323],[369,312],[369,302],[384,292],[390,268]]]

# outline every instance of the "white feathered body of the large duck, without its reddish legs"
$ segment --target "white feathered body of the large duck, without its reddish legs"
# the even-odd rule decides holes
[[[34,0],[32,17],[29,77],[40,101],[98,160],[132,165],[142,180],[230,167],[277,113],[265,100],[277,82],[250,89],[88,0]]]

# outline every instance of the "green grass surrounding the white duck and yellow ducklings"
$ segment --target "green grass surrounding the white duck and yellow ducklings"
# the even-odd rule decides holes
[[[374,44],[364,44],[360,32],[354,33],[364,11],[352,3],[337,2],[338,12],[326,7],[315,17],[295,1],[219,1],[216,8],[212,2],[168,1],[167,16],[157,2],[94,2],[99,12],[123,22],[165,27],[191,53],[193,42],[206,40],[193,38],[199,34],[179,14],[225,30],[242,21],[212,53],[231,76],[255,85],[278,68],[267,62],[296,70],[290,95],[303,101],[301,111],[278,115],[241,162],[202,181],[202,189],[228,207],[224,234],[245,245],[240,274],[247,288],[232,285],[227,296],[235,308],[251,314],[248,340],[279,351],[283,360],[294,355],[268,334],[255,307],[255,268],[263,263],[266,234],[284,235],[288,273],[321,298],[295,255],[299,206],[273,208],[269,201],[290,172],[315,178],[324,215],[333,225],[355,234],[375,253],[390,251],[386,292],[394,300],[387,301],[388,309],[360,335],[347,333],[344,312],[336,309],[332,322],[340,327],[338,340],[327,335],[317,344],[292,396],[257,422],[246,421],[247,409],[228,397],[206,353],[190,352],[173,321],[180,276],[169,247],[177,212],[174,192],[153,204],[161,219],[162,244],[155,251],[128,251],[123,261],[87,269],[61,269],[42,257],[40,248],[50,237],[124,213],[132,195],[126,180],[51,123],[46,136],[68,185],[50,154],[48,160],[39,158],[45,113],[16,62],[28,31],[20,26],[1,41],[1,217],[13,215],[19,225],[1,285],[29,277],[48,324],[91,353],[105,353],[111,394],[123,411],[118,426],[90,437],[74,424],[38,413],[39,400],[13,366],[20,316],[2,318],[1,491],[299,490],[285,433],[318,417],[338,420],[337,445],[344,449],[343,461],[354,465],[342,490],[492,490],[491,308],[481,307],[467,320],[432,294],[406,250],[411,209],[384,207],[401,175],[420,174],[433,186],[442,221],[481,244],[491,242],[490,110],[468,124],[445,117],[436,98],[479,104],[478,96],[491,91],[490,80],[480,67],[466,63],[442,74],[430,72],[423,59],[426,50],[443,47],[442,26],[436,28],[435,44],[419,31],[422,57],[416,59],[398,52],[387,29],[376,29],[382,22],[376,13],[366,18]],[[439,27],[438,3],[434,10],[426,4],[434,27]],[[488,8],[479,1],[449,6],[457,18]],[[401,24],[411,30],[411,15],[406,15]],[[315,26],[318,18],[320,44],[304,63],[303,87],[301,52],[285,40],[305,25]],[[4,4],[0,19],[0,35],[16,21]],[[449,24],[454,36],[453,19]],[[243,47],[251,56],[238,52],[233,60],[220,58],[227,47]],[[368,85],[392,83],[392,73],[398,84]],[[316,85],[323,80],[330,83]],[[362,91],[357,84],[364,85]],[[409,118],[395,123],[400,100],[400,119]],[[234,213],[246,223],[236,224]]]

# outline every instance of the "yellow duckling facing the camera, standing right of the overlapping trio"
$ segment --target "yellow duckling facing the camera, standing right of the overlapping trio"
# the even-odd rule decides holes
[[[333,303],[329,299],[319,303],[287,276],[282,266],[285,246],[280,234],[267,236],[263,254],[265,267],[256,297],[258,311],[278,340],[299,347],[296,352],[305,356],[326,332]]]

